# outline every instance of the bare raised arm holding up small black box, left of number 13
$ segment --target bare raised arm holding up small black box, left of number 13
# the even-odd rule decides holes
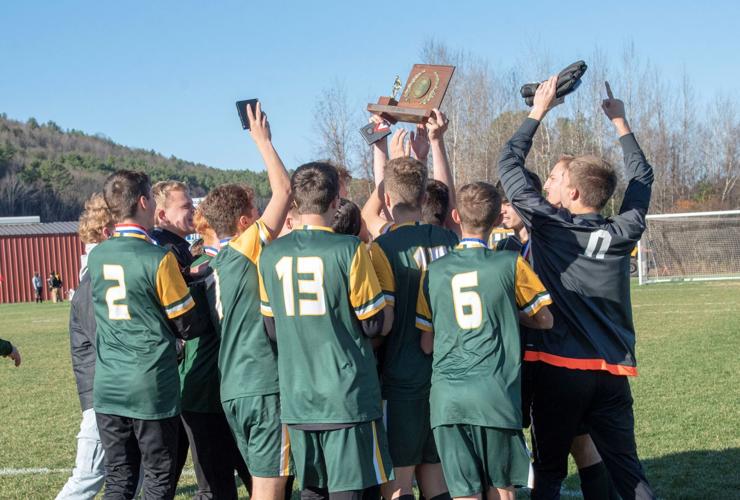
[[[255,106],[255,111],[252,111],[251,106],[247,106],[247,119],[249,120],[249,134],[262,155],[272,191],[270,201],[262,213],[262,221],[270,232],[270,237],[275,238],[280,233],[285,216],[288,215],[290,209],[290,177],[272,145],[270,123],[267,121],[267,115],[262,112],[259,102]]]

